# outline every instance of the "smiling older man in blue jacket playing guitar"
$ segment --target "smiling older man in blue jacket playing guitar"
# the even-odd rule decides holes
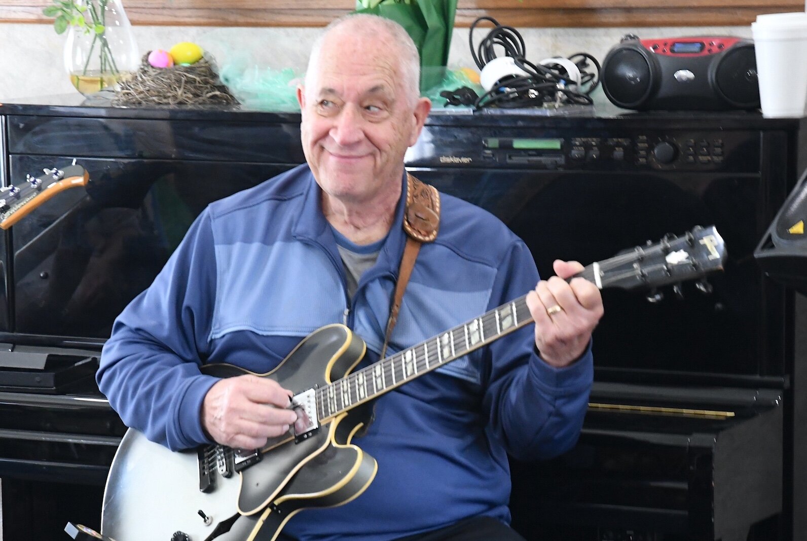
[[[386,19],[328,27],[298,90],[307,164],[211,204],[115,322],[98,384],[128,426],[173,450],[259,449],[289,432],[299,389],[200,367],[266,374],[332,323],[364,339],[361,366],[378,360],[406,240],[403,155],[430,108],[418,66],[412,40]],[[603,310],[592,283],[564,279],[581,269],[558,261],[558,276],[539,281],[504,224],[442,195],[437,239],[417,255],[389,352],[528,291],[534,334],[522,327],[380,396],[353,438],[378,462],[373,482],[345,505],[296,514],[283,535],[521,539],[507,526],[507,453],[567,451],[587,408]]]

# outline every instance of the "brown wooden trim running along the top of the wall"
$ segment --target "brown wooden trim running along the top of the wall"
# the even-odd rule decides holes
[[[49,0],[0,0],[0,22],[50,23]],[[260,3],[261,8],[256,9]],[[760,13],[804,10],[801,0],[458,0],[458,27],[490,16],[514,27],[743,26]],[[128,0],[137,25],[320,27],[349,13],[351,0]]]

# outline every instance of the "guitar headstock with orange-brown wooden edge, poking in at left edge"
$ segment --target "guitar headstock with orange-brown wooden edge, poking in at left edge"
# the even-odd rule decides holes
[[[90,174],[73,163],[63,170],[44,169],[44,174],[27,175],[26,182],[0,188],[0,229],[9,229],[54,195],[69,188],[86,186]]]

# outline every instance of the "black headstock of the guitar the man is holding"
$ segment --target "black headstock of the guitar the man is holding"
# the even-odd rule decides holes
[[[655,244],[622,251],[586,271],[591,269],[592,281],[600,288],[658,287],[721,271],[725,258],[725,244],[717,229],[698,226],[680,237],[667,235]]]

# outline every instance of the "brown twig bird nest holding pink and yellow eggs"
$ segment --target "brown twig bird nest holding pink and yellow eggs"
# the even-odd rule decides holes
[[[118,82],[114,105],[211,105],[232,104],[230,94],[207,58],[191,65],[155,68],[148,63],[148,52],[131,78]]]

